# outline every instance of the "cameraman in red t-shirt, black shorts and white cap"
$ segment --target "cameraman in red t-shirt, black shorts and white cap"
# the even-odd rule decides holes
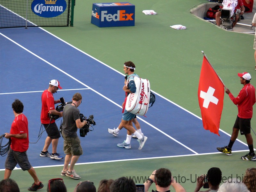
[[[44,90],[42,94],[42,110],[41,110],[41,123],[44,125],[47,137],[45,139],[44,148],[40,153],[41,157],[51,157],[51,159],[62,159],[57,153],[57,146],[60,138],[59,129],[55,123],[55,120],[50,120],[48,112],[53,115],[62,117],[62,112],[55,109],[54,104],[60,103],[60,100],[54,100],[52,93],[56,93],[58,89],[62,89],[60,82],[57,79],[53,79],[49,83],[47,90]],[[52,154],[48,152],[48,148],[52,143]]]

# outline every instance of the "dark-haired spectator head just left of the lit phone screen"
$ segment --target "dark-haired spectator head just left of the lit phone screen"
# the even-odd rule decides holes
[[[136,192],[136,184],[131,178],[120,177],[110,185],[110,192]]]

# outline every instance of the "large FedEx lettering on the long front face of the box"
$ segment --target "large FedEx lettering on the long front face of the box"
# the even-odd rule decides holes
[[[132,15],[133,13],[125,13],[125,10],[118,10],[117,14],[107,14],[108,11],[101,11],[101,21],[104,21],[104,18],[106,18],[107,21],[127,21],[127,20],[133,20]]]

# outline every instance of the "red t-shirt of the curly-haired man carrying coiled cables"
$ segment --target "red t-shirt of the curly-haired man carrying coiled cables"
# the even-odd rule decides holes
[[[15,138],[12,137],[11,149],[13,151],[24,152],[28,150],[28,119],[24,114],[20,114],[15,117],[12,122],[10,134],[22,134],[27,133],[27,138]]]

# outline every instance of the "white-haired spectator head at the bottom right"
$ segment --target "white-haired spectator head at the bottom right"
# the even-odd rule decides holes
[[[223,183],[218,192],[250,192],[242,181],[227,180]]]

